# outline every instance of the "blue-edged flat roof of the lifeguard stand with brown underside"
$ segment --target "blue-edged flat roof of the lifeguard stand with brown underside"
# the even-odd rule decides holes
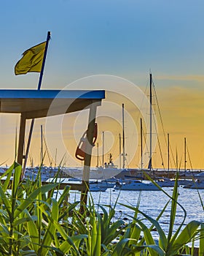
[[[23,113],[26,118],[71,113],[93,102],[101,105],[105,91],[0,90],[0,113]]]

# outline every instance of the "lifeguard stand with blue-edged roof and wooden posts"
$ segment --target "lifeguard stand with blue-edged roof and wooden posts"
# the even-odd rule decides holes
[[[89,109],[87,140],[93,141],[95,116],[98,106],[105,98],[105,91],[83,90],[24,90],[0,89],[0,113],[20,114],[20,132],[17,162],[23,166],[25,156],[25,130],[28,119],[46,118]],[[85,192],[85,181],[89,179],[92,147],[87,143],[82,184],[71,184],[71,189]]]

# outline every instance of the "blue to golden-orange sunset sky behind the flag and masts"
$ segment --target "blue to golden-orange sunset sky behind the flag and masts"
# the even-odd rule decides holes
[[[14,67],[25,50],[44,42],[51,31],[42,89],[106,90],[97,117],[100,154],[101,134],[105,132],[106,161],[112,153],[119,165],[121,105],[125,102],[126,163],[128,167],[140,166],[139,121],[142,116],[146,141],[149,113],[147,107],[142,110],[138,98],[149,97],[146,88],[152,72],[157,121],[154,133],[159,138],[156,143],[154,135],[153,167],[167,167],[169,134],[171,167],[184,167],[186,138],[187,168],[204,168],[203,11],[201,0],[1,1],[0,89],[37,88],[39,73],[15,76]],[[0,164],[10,165],[15,159],[20,116],[0,117]],[[81,162],[74,162],[74,149],[86,129],[86,120],[87,111],[64,117],[60,132],[55,126],[51,130],[46,120],[37,120],[30,152],[35,165],[39,164],[43,125],[52,159],[60,162],[65,155],[66,165],[81,166]],[[93,152],[96,154],[96,146]]]

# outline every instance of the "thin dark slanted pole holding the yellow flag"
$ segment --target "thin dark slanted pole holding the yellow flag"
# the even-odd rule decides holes
[[[45,48],[44,48],[44,56],[43,56],[43,60],[42,60],[42,68],[41,68],[41,72],[40,72],[40,75],[39,75],[38,91],[41,89],[41,85],[42,85],[44,64],[45,64],[45,60],[46,60],[46,56],[47,56],[47,48],[48,48],[48,44],[49,44],[49,41],[50,41],[50,35],[51,35],[51,32],[48,31],[47,32],[46,45],[45,45]],[[31,137],[32,137],[33,129],[34,129],[34,120],[35,120],[34,118],[31,120],[31,127],[30,127],[30,132],[29,132],[29,135],[28,135],[28,144],[27,144],[27,148],[26,148],[26,155],[24,157],[25,160],[24,160],[24,163],[23,163],[23,170],[22,170],[22,173],[21,173],[21,179],[23,179],[25,169],[26,169],[26,164],[27,164],[27,159],[28,159],[28,151],[29,151],[29,148],[30,148]]]

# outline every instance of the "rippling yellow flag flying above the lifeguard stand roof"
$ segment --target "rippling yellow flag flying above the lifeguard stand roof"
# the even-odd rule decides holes
[[[41,72],[46,42],[42,42],[23,53],[20,61],[15,65],[15,75],[28,72]]]

